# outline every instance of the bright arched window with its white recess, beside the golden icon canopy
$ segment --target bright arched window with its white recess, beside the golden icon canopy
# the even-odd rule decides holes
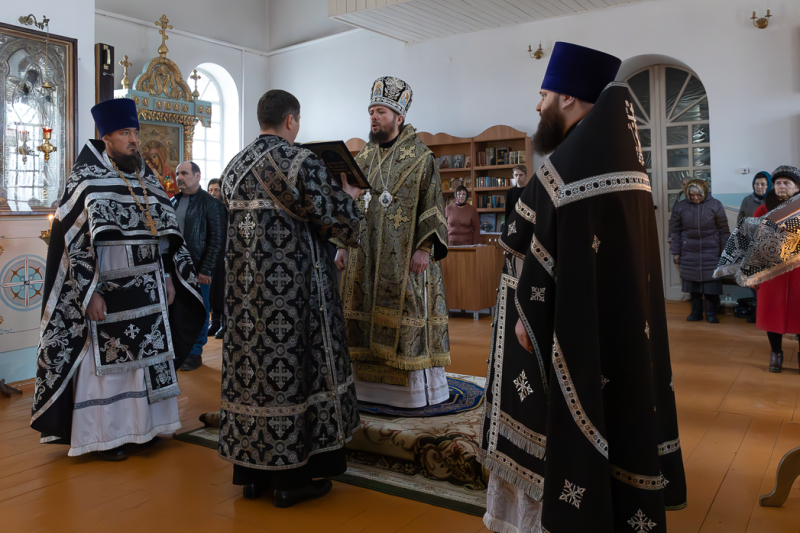
[[[192,158],[200,167],[203,189],[219,178],[228,161],[241,149],[239,142],[239,92],[228,71],[214,63],[197,66],[200,100],[211,104],[211,127],[194,128]]]

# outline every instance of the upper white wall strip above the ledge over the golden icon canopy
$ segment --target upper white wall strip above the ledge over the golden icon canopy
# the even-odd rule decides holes
[[[267,0],[96,0],[95,4],[103,11],[151,22],[165,14],[175,29],[256,50],[267,46]],[[167,44],[172,43],[170,38]]]

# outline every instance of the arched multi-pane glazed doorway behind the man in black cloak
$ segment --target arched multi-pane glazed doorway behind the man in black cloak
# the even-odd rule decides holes
[[[625,81],[657,209],[664,287],[668,298],[679,298],[681,280],[668,252],[669,219],[675,203],[685,198],[684,180],[705,180],[711,190],[708,94],[694,72],[675,65],[654,65]]]

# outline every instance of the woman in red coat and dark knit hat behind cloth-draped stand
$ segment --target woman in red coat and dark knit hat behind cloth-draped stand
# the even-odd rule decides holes
[[[772,174],[773,189],[754,217],[762,217],[800,193],[800,169],[778,167]],[[800,333],[800,269],[790,270],[758,285],[756,327],[767,332],[771,348],[769,371],[783,367],[783,335]]]

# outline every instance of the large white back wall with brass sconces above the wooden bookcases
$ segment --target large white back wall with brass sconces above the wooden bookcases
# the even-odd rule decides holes
[[[763,3],[763,2],[762,2]],[[693,68],[711,106],[714,193],[748,191],[735,169],[800,164],[800,2],[773,0],[766,30],[751,0],[658,0],[407,46],[358,32],[270,58],[273,88],[303,106],[300,140],[365,138],[372,81],[411,84],[417,129],[472,136],[497,124],[532,133],[549,54],[557,40],[622,59],[670,56]],[[285,31],[290,31],[286,28]]]

